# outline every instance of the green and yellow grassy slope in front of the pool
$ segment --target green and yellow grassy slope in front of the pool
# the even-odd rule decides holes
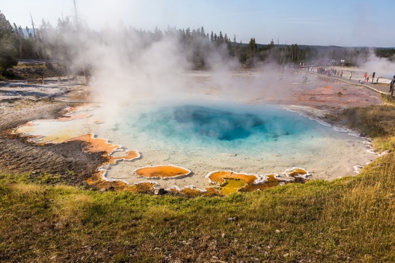
[[[379,110],[345,115],[373,116],[390,131]],[[101,194],[45,181],[0,174],[0,261],[395,261],[395,153],[356,177],[228,197]]]

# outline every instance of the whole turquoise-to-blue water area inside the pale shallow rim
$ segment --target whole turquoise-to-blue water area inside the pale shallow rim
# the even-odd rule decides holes
[[[189,147],[254,148],[266,142],[291,142],[308,136],[315,121],[271,106],[209,104],[138,106],[125,111],[119,129],[134,139],[175,149]],[[310,136],[311,137],[311,136]]]

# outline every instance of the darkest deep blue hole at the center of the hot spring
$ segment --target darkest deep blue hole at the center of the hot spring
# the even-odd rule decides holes
[[[180,124],[190,124],[188,127],[200,135],[221,141],[245,139],[257,132],[267,132],[265,120],[251,113],[183,106],[174,110],[174,119]]]

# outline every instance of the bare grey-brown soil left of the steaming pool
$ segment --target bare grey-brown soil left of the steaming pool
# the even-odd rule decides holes
[[[67,105],[53,102],[21,105],[22,108],[18,111],[0,115],[0,171],[36,171],[37,173],[31,174],[32,180],[48,173],[59,175],[58,182],[87,186],[84,180],[92,177],[97,167],[107,161],[107,158],[102,156],[103,152],[84,151],[86,143],[81,141],[37,145],[29,143],[28,137],[12,133],[13,128],[33,119],[61,117]]]

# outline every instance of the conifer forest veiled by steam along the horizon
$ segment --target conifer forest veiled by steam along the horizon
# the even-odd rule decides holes
[[[16,23],[11,24],[0,11],[0,74],[12,77],[12,72],[7,69],[16,66],[18,59],[51,59],[70,67],[79,64],[83,57],[89,64],[90,58],[82,55],[89,48],[87,39],[103,44],[116,42],[130,54],[163,39],[175,39],[177,51],[187,58],[189,68],[194,70],[209,70],[213,63],[218,63],[218,59],[212,60],[213,53],[228,70],[257,68],[270,63],[316,64],[318,59],[329,59],[337,65],[344,61],[345,66],[357,66],[372,52],[389,60],[393,60],[395,54],[395,49],[389,48],[284,45],[278,39],[258,44],[251,38],[248,43],[243,43],[235,34],[209,33],[203,27],[191,30],[168,26],[163,30],[156,27],[154,31],[146,31],[131,26],[126,28],[120,22],[117,29],[95,31],[78,16],[59,18],[55,26],[42,19],[37,27],[32,19],[30,27],[22,28]]]

